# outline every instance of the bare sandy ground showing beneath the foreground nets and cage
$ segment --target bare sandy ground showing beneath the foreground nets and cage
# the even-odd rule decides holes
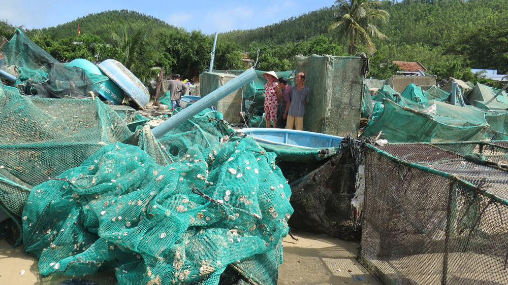
[[[299,238],[298,241],[290,236],[283,240],[284,262],[279,268],[277,285],[379,284],[355,259],[359,243],[325,235],[293,234]],[[21,248],[12,248],[5,240],[0,240],[0,284],[58,285],[71,278],[86,279],[100,285],[116,283],[113,272],[43,278],[38,274],[37,261],[23,254]]]

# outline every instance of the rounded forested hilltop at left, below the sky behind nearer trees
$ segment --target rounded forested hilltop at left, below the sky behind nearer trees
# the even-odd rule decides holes
[[[48,33],[52,39],[73,37],[78,34],[78,24],[81,33],[95,34],[102,38],[107,38],[118,27],[118,24],[125,24],[130,30],[137,30],[141,27],[176,29],[163,20],[136,11],[114,10],[89,14],[56,27],[44,28],[42,31]]]

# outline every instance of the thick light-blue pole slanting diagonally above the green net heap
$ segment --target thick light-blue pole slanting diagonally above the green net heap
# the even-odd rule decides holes
[[[235,92],[236,90],[240,89],[242,86],[255,80],[256,78],[257,76],[256,72],[254,71],[254,68],[249,68],[245,70],[242,74],[233,78],[230,82],[224,84],[223,86],[220,86],[215,91],[196,101],[196,103],[193,103],[192,105],[183,109],[178,114],[175,114],[174,116],[166,120],[164,123],[153,128],[152,129],[153,135],[155,136],[155,138],[161,138],[170,130],[176,128],[183,122],[187,121],[189,118],[192,118],[194,115],[205,110],[209,106],[215,104],[218,100]]]

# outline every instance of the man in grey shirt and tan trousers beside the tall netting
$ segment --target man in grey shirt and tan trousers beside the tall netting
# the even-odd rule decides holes
[[[287,129],[303,130],[303,115],[305,114],[305,104],[309,101],[309,88],[303,85],[305,80],[304,73],[298,73],[295,77],[296,85],[291,87],[290,105],[288,111]]]

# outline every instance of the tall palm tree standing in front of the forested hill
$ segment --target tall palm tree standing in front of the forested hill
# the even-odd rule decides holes
[[[373,54],[376,51],[372,38],[389,40],[374,25],[376,21],[386,23],[390,15],[385,10],[376,9],[381,5],[379,1],[372,0],[336,0],[336,22],[330,29],[337,29],[347,37],[347,52],[353,55],[357,51],[357,43],[364,45]]]

